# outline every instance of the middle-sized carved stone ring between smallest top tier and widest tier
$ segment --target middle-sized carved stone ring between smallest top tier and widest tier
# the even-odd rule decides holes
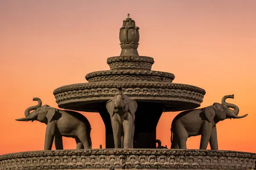
[[[105,70],[95,71],[85,76],[88,82],[137,81],[172,82],[174,74],[149,70]]]

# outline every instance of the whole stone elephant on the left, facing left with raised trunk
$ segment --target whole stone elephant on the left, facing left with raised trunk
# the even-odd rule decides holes
[[[62,136],[76,139],[76,149],[90,149],[92,147],[90,139],[91,126],[89,121],[82,114],[75,111],[64,111],[43,105],[39,98],[38,105],[31,106],[25,111],[25,118],[17,121],[39,121],[45,123],[46,133],[44,150],[52,150],[54,141],[56,150],[63,150]],[[33,111],[35,110],[35,111]],[[30,111],[33,111],[29,113]]]

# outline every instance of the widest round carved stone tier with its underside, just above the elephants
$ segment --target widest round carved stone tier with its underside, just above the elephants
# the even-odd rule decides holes
[[[124,94],[138,102],[158,102],[165,111],[197,108],[203,102],[204,89],[170,82],[88,82],[57,88],[53,94],[60,108],[97,112],[93,103],[107,102],[122,85]],[[80,107],[79,107],[80,106]]]

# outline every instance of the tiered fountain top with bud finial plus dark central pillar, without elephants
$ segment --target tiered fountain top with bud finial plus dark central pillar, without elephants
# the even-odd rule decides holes
[[[121,84],[124,94],[137,101],[134,148],[155,148],[156,128],[163,111],[183,111],[200,106],[205,91],[201,88],[173,83],[174,74],[152,71],[152,57],[139,56],[139,27],[129,15],[120,28],[120,56],[109,57],[110,70],[95,71],[85,76],[88,83],[66,85],[53,94],[60,108],[96,112],[106,129],[106,148],[113,148],[111,119],[106,102]]]

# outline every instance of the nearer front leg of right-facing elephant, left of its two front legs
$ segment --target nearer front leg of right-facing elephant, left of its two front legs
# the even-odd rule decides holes
[[[212,133],[212,123],[205,121],[202,125],[201,130],[201,142],[200,149],[207,149],[211,133]]]

